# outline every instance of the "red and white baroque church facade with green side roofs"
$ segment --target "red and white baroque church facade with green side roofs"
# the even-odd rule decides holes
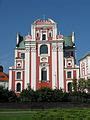
[[[60,34],[52,19],[38,19],[31,33],[17,33],[14,66],[9,67],[9,90],[20,93],[30,86],[70,91],[73,79],[79,79],[74,32]]]

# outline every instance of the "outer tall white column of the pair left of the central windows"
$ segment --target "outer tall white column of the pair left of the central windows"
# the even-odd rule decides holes
[[[29,83],[30,83],[30,48],[26,48],[24,89],[28,87]]]

